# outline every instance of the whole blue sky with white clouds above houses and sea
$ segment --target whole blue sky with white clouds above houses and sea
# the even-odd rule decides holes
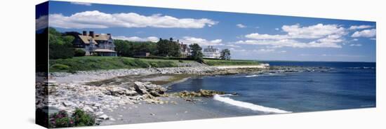
[[[50,1],[40,22],[113,39],[178,39],[231,50],[232,59],[375,62],[375,22]]]

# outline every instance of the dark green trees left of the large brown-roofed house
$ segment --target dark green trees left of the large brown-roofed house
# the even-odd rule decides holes
[[[74,36],[62,36],[54,28],[48,29],[50,59],[66,59],[74,56]]]

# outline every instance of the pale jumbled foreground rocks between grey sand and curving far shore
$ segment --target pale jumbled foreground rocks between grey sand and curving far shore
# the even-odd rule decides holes
[[[136,81],[135,85],[121,86],[87,86],[74,83],[55,83],[53,85],[36,85],[36,92],[44,93],[44,89],[55,88],[49,100],[36,97],[36,108],[48,106],[51,109],[65,110],[72,113],[76,108],[83,109],[98,116],[100,121],[112,119],[103,111],[114,111],[119,106],[147,102],[164,104],[157,97],[165,96],[166,88],[149,82]],[[40,106],[40,107],[39,107]]]

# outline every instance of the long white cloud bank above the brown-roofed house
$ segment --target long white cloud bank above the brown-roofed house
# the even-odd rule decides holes
[[[174,18],[169,15],[140,15],[138,13],[102,13],[84,11],[65,16],[50,14],[50,26],[60,28],[108,28],[108,27],[160,27],[160,28],[203,28],[216,25],[210,19]]]

